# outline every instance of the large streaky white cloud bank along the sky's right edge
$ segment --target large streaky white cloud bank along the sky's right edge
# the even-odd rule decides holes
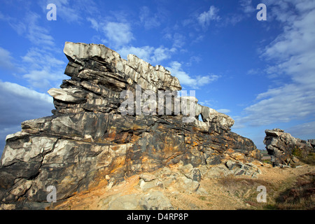
[[[279,6],[278,13],[281,10],[286,15],[295,12],[295,20],[275,17],[284,25],[283,32],[262,50],[262,58],[269,63],[266,72],[280,85],[258,94],[255,104],[244,110],[247,116],[240,118],[240,123],[268,125],[314,118],[315,4],[305,1],[307,6],[313,8],[304,10],[304,7],[295,5],[295,8],[288,10],[287,3],[269,1],[269,4]],[[269,5],[269,8],[272,7]]]

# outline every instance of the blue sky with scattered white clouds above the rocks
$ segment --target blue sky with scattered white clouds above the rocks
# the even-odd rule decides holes
[[[47,20],[48,3],[57,20]],[[167,67],[260,149],[275,127],[315,139],[314,24],[314,0],[1,0],[0,153],[22,121],[51,115],[47,91],[69,78],[65,41]]]

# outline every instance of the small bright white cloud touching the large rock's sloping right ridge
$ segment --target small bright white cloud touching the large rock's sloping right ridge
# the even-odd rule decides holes
[[[181,85],[188,85],[195,89],[199,89],[199,87],[212,83],[219,78],[217,75],[196,76],[195,78],[192,78],[188,73],[183,71],[181,63],[179,62],[171,62],[170,67],[166,67],[166,69],[171,71],[173,76],[179,78],[179,83],[181,83]]]

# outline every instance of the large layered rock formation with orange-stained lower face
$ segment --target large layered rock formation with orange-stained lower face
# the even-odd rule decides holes
[[[61,202],[100,183],[111,188],[128,176],[179,162],[199,167],[225,164],[227,158],[260,159],[253,141],[230,132],[232,118],[197,104],[195,97],[177,97],[179,80],[163,66],[134,55],[122,59],[104,45],[66,42],[64,53],[71,79],[48,91],[53,115],[27,120],[22,132],[6,138],[0,167],[3,208],[44,209],[50,204],[48,186],[55,186]],[[192,181],[199,178],[196,170],[189,175]],[[142,207],[150,209],[156,194],[143,197]],[[163,208],[171,208],[163,202]]]

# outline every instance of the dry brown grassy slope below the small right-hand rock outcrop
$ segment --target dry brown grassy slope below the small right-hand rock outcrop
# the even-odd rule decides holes
[[[219,183],[229,193],[250,204],[248,209],[315,209],[314,171],[314,167],[309,166],[270,169],[265,175],[258,176],[258,179],[230,177],[220,179]],[[257,201],[258,186],[267,189],[266,203]]]

